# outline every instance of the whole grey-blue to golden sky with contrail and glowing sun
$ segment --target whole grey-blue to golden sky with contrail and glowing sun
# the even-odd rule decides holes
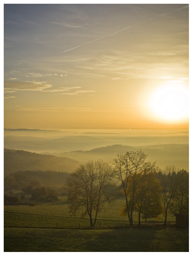
[[[188,4],[4,4],[4,128],[188,129]]]

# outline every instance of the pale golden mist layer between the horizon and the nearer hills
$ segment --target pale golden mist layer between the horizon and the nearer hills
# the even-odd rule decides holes
[[[70,152],[120,144],[151,146],[188,144],[188,130],[153,129],[4,129],[4,148],[40,152]]]

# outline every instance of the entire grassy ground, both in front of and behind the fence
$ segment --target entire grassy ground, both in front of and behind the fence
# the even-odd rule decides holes
[[[116,200],[115,204],[106,207],[104,212],[99,213],[93,229],[85,229],[90,225],[87,217],[71,217],[68,204],[4,206],[4,251],[188,251],[188,229],[178,229],[172,225],[175,222],[173,215],[168,215],[168,221],[173,223],[164,228],[161,223],[164,221],[163,215],[151,220],[159,222],[158,225],[147,223],[145,226],[142,222],[142,226],[138,227],[138,216],[134,214],[134,227],[128,227],[128,218],[120,216],[123,204],[123,200]]]

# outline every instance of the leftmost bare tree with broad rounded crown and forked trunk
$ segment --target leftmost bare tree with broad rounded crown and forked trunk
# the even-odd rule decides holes
[[[80,164],[66,183],[68,200],[71,202],[69,209],[72,215],[80,212],[84,217],[88,214],[90,226],[95,225],[97,214],[104,204],[114,200],[108,186],[112,172],[111,165],[102,160]]]

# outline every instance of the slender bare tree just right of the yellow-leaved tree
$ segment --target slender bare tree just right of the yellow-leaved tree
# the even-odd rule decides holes
[[[165,221],[164,225],[166,225],[167,221],[167,212],[169,209],[169,205],[171,200],[174,198],[176,192],[178,191],[179,185],[179,175],[178,169],[173,165],[166,165],[162,176],[160,177],[160,185],[162,186],[162,202],[164,204],[164,213],[165,213]]]

